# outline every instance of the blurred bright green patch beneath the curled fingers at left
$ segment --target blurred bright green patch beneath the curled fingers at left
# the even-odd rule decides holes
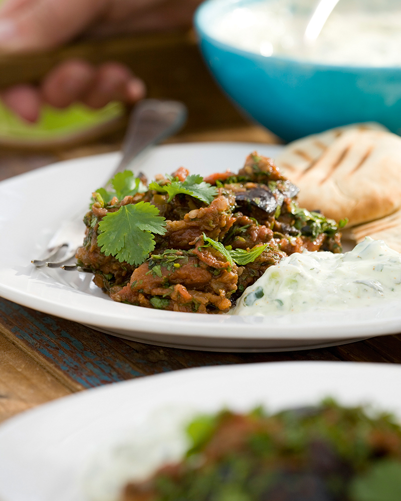
[[[63,110],[44,105],[39,121],[31,124],[0,101],[0,140],[6,141],[9,138],[34,142],[62,138],[109,122],[123,113],[124,106],[117,102],[109,103],[100,110],[93,110],[80,103]]]

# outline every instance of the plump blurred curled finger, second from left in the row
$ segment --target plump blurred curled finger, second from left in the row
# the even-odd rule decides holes
[[[56,108],[80,101],[93,87],[96,69],[80,60],[70,60],[54,68],[42,83],[42,97]]]

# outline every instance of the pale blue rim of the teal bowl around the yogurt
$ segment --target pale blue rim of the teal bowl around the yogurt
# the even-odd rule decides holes
[[[247,1],[247,0],[245,0]],[[248,0],[247,3],[249,4],[257,4],[260,3],[262,0]],[[220,47],[220,49],[226,51],[226,52],[232,52],[236,53],[239,56],[244,56],[247,59],[252,56],[253,59],[258,59],[260,61],[274,61],[274,62],[285,62],[285,63],[291,63],[294,65],[299,65],[299,66],[309,66],[309,67],[316,67],[317,70],[322,70],[322,71],[339,71],[342,73],[357,73],[357,72],[371,72],[371,73],[378,73],[378,72],[385,72],[385,73],[394,73],[394,72],[399,72],[401,73],[401,65],[400,66],[362,66],[362,65],[339,65],[339,64],[327,64],[327,63],[319,63],[319,62],[314,62],[314,61],[308,61],[308,60],[302,60],[299,58],[292,58],[290,56],[262,56],[262,54],[258,54],[257,52],[251,52],[247,51],[245,49],[240,49],[238,47],[235,47],[233,45],[230,45],[226,42],[222,42],[212,35],[208,33],[207,28],[204,28],[202,25],[202,16],[203,12],[207,11],[210,8],[213,8],[214,5],[230,5],[230,4],[239,4],[240,0],[205,0],[202,4],[199,5],[199,7],[196,9],[194,17],[193,17],[193,24],[195,27],[196,32],[198,35],[200,34],[202,36],[202,39],[208,40],[210,43],[213,43],[213,45]]]

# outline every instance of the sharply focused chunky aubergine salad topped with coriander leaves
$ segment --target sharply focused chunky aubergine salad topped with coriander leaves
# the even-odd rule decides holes
[[[79,266],[111,299],[162,310],[228,312],[267,268],[295,252],[341,252],[339,228],[300,208],[298,188],[252,153],[238,174],[180,167],[146,179],[116,174],[92,195]]]

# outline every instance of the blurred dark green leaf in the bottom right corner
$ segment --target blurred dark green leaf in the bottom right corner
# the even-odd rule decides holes
[[[377,461],[352,481],[349,493],[352,501],[400,501],[401,462]]]

